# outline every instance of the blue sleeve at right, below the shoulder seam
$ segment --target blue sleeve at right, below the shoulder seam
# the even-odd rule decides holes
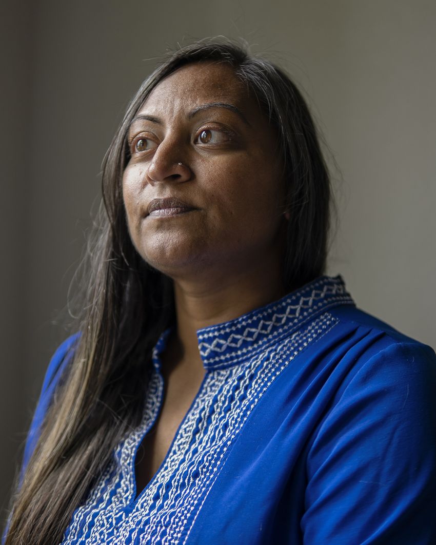
[[[436,543],[436,358],[397,343],[362,365],[307,457],[305,545]]]

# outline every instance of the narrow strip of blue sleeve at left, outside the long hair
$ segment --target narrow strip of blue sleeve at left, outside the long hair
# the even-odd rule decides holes
[[[37,444],[41,424],[43,423],[45,414],[47,412],[47,409],[49,408],[54,390],[56,388],[56,385],[58,384],[62,372],[64,371],[66,365],[71,360],[72,355],[74,354],[74,347],[79,337],[80,332],[72,335],[71,337],[67,338],[62,344],[60,344],[56,352],[53,354],[49,366],[47,367],[37,408],[35,409],[31,427],[29,428],[29,432],[27,434],[23,461],[20,471],[20,485],[24,471],[27,467],[29,459],[32,456],[35,445]]]

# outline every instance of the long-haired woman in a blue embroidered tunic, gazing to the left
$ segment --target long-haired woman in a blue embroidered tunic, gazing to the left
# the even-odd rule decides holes
[[[329,176],[288,77],[184,47],[102,183],[5,543],[434,542],[435,356],[322,276]]]

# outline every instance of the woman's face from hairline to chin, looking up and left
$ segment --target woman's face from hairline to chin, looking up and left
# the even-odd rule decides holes
[[[276,133],[230,65],[189,64],[165,78],[128,140],[123,198],[145,261],[178,278],[238,274],[281,255]]]

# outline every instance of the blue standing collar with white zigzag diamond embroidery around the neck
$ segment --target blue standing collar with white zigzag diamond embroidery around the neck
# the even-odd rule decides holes
[[[252,358],[281,337],[289,336],[327,308],[354,305],[341,276],[321,276],[272,302],[239,318],[197,331],[198,349],[207,371],[239,364]],[[153,352],[156,367],[168,334],[161,335]]]

